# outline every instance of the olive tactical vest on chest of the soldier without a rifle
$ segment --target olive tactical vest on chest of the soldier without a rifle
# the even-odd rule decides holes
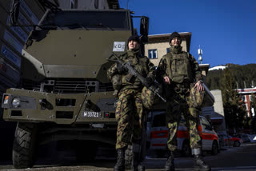
[[[193,82],[189,53],[168,53],[165,56],[163,56],[163,59],[166,60],[167,64],[166,74],[168,74],[168,77],[171,79],[172,82]]]

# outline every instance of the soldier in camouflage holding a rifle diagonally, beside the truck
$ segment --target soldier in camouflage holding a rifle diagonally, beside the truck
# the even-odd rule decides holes
[[[120,59],[130,62],[131,66],[137,70],[144,78],[146,83],[151,85],[154,82],[154,64],[139,52],[140,40],[138,36],[131,36],[128,39],[128,49]],[[118,93],[118,104],[116,108],[116,119],[118,121],[117,143],[118,160],[114,166],[115,171],[125,169],[125,150],[127,145],[133,143],[132,170],[143,170],[139,161],[140,141],[145,115],[142,105],[142,83],[138,78],[134,78],[119,63],[115,63],[107,71],[108,78],[113,81],[115,75],[122,75],[122,85]]]

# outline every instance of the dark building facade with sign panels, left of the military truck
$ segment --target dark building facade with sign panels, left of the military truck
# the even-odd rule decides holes
[[[10,26],[10,9],[13,1],[0,0],[0,99],[10,87],[16,87],[20,78],[22,48],[38,24],[45,10],[38,1],[20,0],[18,25]]]

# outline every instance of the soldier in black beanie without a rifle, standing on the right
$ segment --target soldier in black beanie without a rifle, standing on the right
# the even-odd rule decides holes
[[[190,129],[190,147],[194,155],[194,168],[210,170],[202,159],[202,139],[198,133],[199,106],[194,105],[190,97],[190,89],[198,92],[204,90],[202,75],[198,62],[189,53],[182,51],[182,38],[174,32],[170,35],[170,53],[164,55],[157,70],[158,82],[163,82],[167,97],[166,125],[169,129],[167,141],[170,156],[166,161],[165,169],[174,171],[174,150],[177,149],[178,124],[183,113],[187,127]]]

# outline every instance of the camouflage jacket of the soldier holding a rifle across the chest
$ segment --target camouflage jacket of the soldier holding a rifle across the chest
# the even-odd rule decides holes
[[[144,78],[150,77],[152,80],[155,79],[155,67],[154,64],[146,56],[141,56],[139,50],[132,51],[127,50],[125,54],[122,54],[120,59],[124,62],[130,62],[131,66],[138,71],[139,74],[142,74]],[[110,69],[107,70],[107,77],[111,80],[114,75],[122,75],[122,89],[142,89],[143,85],[138,80],[134,78],[129,73],[119,73],[117,64],[110,66]],[[129,81],[127,81],[129,80]]]

